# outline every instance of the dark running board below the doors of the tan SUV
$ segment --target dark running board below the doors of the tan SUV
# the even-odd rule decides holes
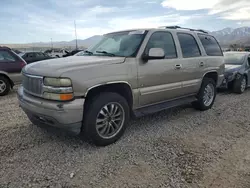
[[[147,114],[152,114],[152,113],[159,112],[159,111],[162,111],[162,110],[166,110],[166,109],[169,109],[169,108],[173,108],[173,107],[181,106],[181,105],[184,105],[184,104],[192,103],[192,102],[194,102],[196,100],[197,100],[197,98],[195,96],[179,98],[179,99],[175,99],[175,100],[172,100],[172,101],[167,101],[167,102],[163,102],[163,103],[159,103],[159,104],[155,104],[155,105],[151,105],[151,106],[147,106],[147,107],[137,109],[137,110],[134,111],[134,115],[136,117],[141,117],[141,116],[145,116]]]

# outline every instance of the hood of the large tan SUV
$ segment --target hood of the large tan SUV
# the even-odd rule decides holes
[[[59,77],[62,73],[77,70],[86,66],[101,66],[104,64],[123,63],[125,57],[108,56],[71,56],[49,59],[26,65],[23,71],[37,76]]]

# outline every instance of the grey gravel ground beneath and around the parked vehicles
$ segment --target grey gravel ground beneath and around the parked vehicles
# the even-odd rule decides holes
[[[250,90],[136,119],[96,148],[32,125],[16,90],[0,98],[0,187],[250,187]]]

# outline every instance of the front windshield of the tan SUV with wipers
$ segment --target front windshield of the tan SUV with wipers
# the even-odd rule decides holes
[[[145,30],[119,32],[104,35],[99,43],[77,56],[135,57],[146,35]]]

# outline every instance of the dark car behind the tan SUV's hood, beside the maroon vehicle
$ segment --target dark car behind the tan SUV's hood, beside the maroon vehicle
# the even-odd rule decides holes
[[[52,59],[52,57],[42,52],[26,52],[19,54],[19,56],[21,56],[27,62],[27,64],[36,61]]]

